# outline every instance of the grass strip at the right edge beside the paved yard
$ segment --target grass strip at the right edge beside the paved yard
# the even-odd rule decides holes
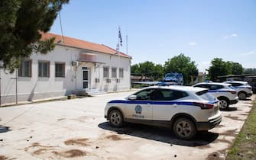
[[[256,158],[256,100],[226,159]]]

